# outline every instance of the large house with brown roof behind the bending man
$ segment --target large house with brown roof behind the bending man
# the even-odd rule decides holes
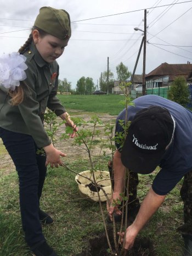
[[[169,86],[178,76],[184,76],[187,82],[192,81],[192,64],[162,63],[145,75],[146,89]]]

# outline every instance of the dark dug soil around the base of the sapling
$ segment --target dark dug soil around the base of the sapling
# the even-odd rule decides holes
[[[110,232],[109,236],[112,236]],[[110,237],[112,241],[112,237]],[[109,246],[106,240],[105,233],[95,236],[89,240],[89,248],[80,254],[74,256],[115,256],[118,254],[111,254],[108,252]],[[111,244],[114,246],[114,244]],[[127,251],[127,254],[122,254],[123,256],[156,256],[153,242],[147,237],[138,237],[135,239],[134,246],[131,250]]]

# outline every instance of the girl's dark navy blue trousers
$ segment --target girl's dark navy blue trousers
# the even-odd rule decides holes
[[[12,158],[19,176],[19,200],[22,228],[29,246],[45,241],[39,221],[39,199],[46,177],[46,157],[37,155],[30,135],[0,127],[0,137]]]

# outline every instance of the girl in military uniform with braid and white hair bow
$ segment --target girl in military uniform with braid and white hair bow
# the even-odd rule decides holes
[[[25,240],[36,256],[57,255],[42,233],[41,223],[52,224],[53,219],[39,208],[39,199],[46,166],[58,167],[62,164],[60,157],[66,156],[54,148],[44,130],[46,108],[74,129],[71,137],[77,131],[56,96],[59,75],[56,59],[63,54],[70,36],[69,14],[42,7],[19,53],[4,57],[2,62],[0,59],[0,137],[18,172],[22,227]],[[5,68],[2,63],[6,63]],[[46,156],[36,154],[38,148],[43,148]]]

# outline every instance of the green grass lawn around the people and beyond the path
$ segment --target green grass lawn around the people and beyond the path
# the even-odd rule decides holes
[[[117,115],[123,109],[123,105],[119,104],[123,96],[70,95],[59,97],[67,111],[68,109],[80,109],[82,113],[87,112],[88,115],[93,113]],[[0,155],[5,153],[3,148]],[[97,168],[108,170],[109,159],[109,155],[101,158]],[[89,169],[89,164],[82,155],[68,160],[66,158],[65,164],[76,172]],[[15,171],[6,170],[5,172],[1,168],[0,171],[0,256],[29,256],[31,254],[24,241],[21,227],[18,176]],[[154,177],[154,174],[139,176],[140,201],[148,192]],[[181,183],[179,182],[168,194],[165,203],[140,232],[140,236],[148,236],[153,240],[159,256],[182,255],[183,241],[176,231],[183,222],[183,203],[179,196]],[[106,204],[102,205],[106,216]],[[50,246],[60,256],[74,256],[81,253],[88,246],[88,240],[91,237],[104,231],[99,204],[88,202],[80,197],[75,174],[63,167],[48,168],[41,208],[54,219],[53,225],[43,226],[43,233]]]

